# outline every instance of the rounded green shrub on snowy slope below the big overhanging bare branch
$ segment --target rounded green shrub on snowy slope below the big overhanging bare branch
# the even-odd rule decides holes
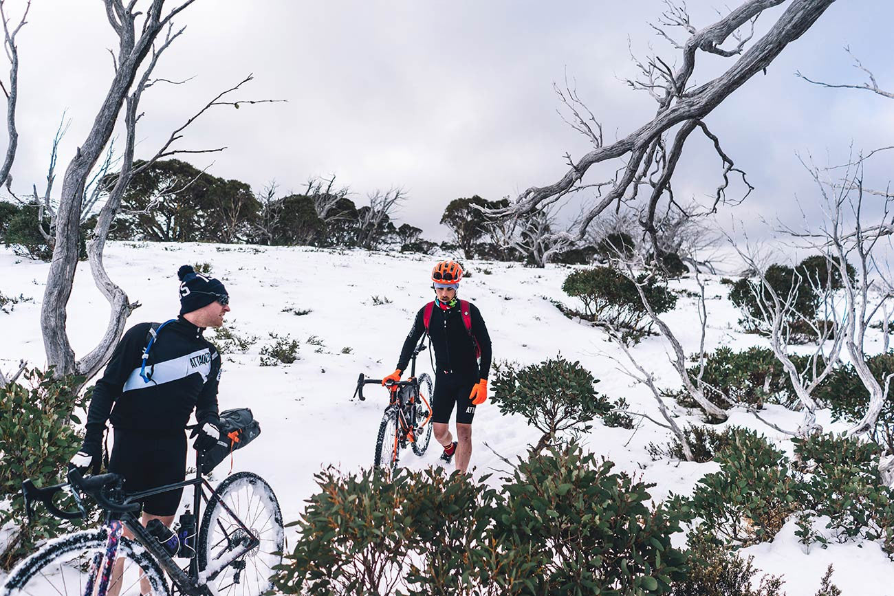
[[[654,278],[647,280],[645,274],[640,274],[637,283],[644,284],[645,298],[655,314],[666,313],[677,305],[677,296]],[[617,269],[579,269],[565,279],[562,291],[572,298],[580,298],[584,311],[573,314],[583,319],[608,323],[631,332],[634,339],[637,335],[641,337],[651,327],[651,321],[646,322],[648,314],[639,298],[636,283]]]

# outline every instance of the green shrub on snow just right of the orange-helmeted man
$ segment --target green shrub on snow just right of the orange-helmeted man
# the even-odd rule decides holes
[[[539,365],[504,364],[494,369],[493,403],[503,415],[520,414],[543,436],[534,448],[539,452],[561,441],[562,433],[575,436],[590,430],[596,416],[613,409],[609,400],[597,393],[599,382],[578,362],[559,356]]]

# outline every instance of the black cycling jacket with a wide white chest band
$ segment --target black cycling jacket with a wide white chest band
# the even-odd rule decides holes
[[[93,390],[85,445],[102,441],[106,420],[116,429],[182,432],[194,408],[198,421],[217,416],[221,358],[204,330],[182,317],[164,325],[149,350],[145,382],[139,372],[151,325],[134,325],[114,349]]]

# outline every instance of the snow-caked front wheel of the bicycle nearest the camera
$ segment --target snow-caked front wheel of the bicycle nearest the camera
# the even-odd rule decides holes
[[[22,560],[0,587],[2,596],[43,596],[58,594],[83,596],[89,579],[90,561],[100,553],[105,554],[106,528],[76,532],[50,541],[43,548]],[[149,582],[152,596],[170,596],[164,572],[158,561],[142,546],[122,536],[118,542],[116,562],[124,560],[119,596],[139,596],[140,570]],[[81,557],[78,557],[78,554]],[[72,557],[73,556],[73,557]],[[127,565],[130,561],[133,566]],[[109,589],[112,589],[110,583]],[[70,592],[71,591],[71,592]]]

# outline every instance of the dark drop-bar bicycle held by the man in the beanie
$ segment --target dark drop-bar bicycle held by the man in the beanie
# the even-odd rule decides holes
[[[171,578],[172,587],[187,596],[260,596],[269,590],[273,567],[282,561],[284,541],[283,516],[274,491],[251,472],[231,474],[215,489],[201,474],[201,457],[197,452],[195,478],[134,493],[122,490],[119,474],[84,477],[73,469],[67,475],[68,483],[44,488],[26,480],[22,490],[29,519],[35,502],[42,502],[51,514],[63,519],[84,518],[87,510],[82,493],[103,509],[105,521],[97,529],[46,543],[13,569],[0,596],[169,596],[173,592],[164,573]],[[190,559],[188,567],[181,567],[168,550],[171,542],[160,541],[139,523],[140,504],[135,501],[189,486],[193,490],[193,523],[199,520],[203,501],[206,508],[195,532],[177,544],[175,555]],[[63,510],[54,503],[66,488],[71,489],[77,511]],[[124,527],[133,533],[133,539],[122,536]]]

